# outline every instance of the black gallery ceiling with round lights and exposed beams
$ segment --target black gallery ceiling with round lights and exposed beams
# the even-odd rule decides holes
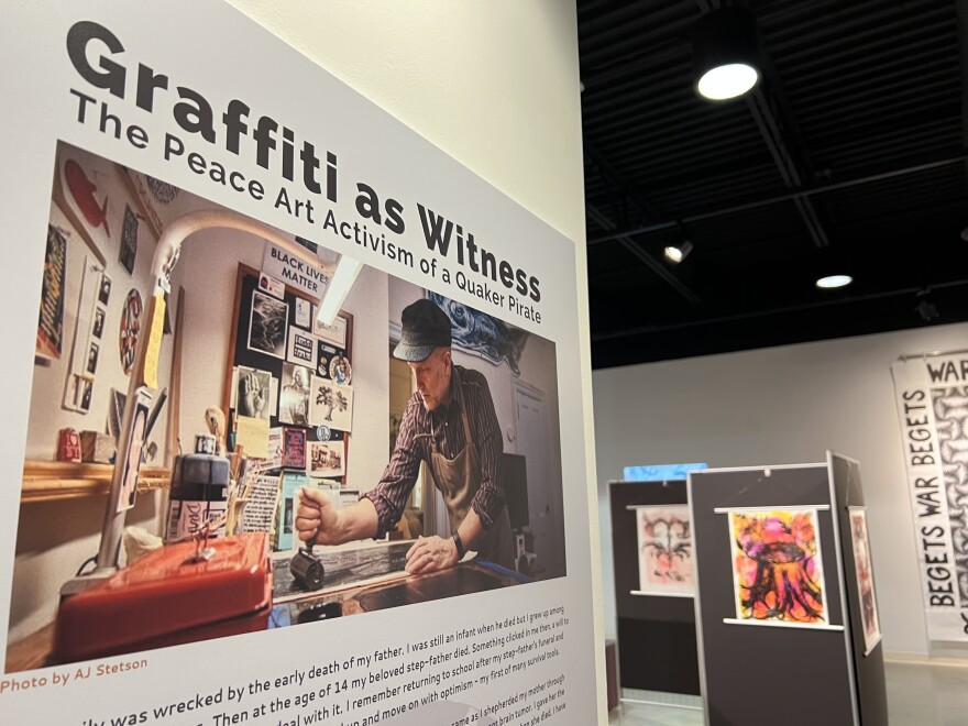
[[[578,2],[593,367],[968,320],[968,0],[739,4],[763,77],[713,103],[718,2]]]

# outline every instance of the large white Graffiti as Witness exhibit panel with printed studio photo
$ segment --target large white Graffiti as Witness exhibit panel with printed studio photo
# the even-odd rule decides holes
[[[595,723],[573,242],[227,4],[14,13],[4,715]]]

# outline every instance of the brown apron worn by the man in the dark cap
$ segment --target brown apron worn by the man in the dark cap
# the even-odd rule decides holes
[[[468,413],[461,405],[461,424],[464,427],[464,440],[468,442],[461,452],[453,459],[444,457],[437,447],[437,438],[430,439],[430,472],[433,483],[443,495],[450,515],[451,532],[455,532],[460,524],[468,516],[471,503],[481,488],[481,464],[477,455],[477,447],[471,439],[471,427],[468,424]],[[507,517],[507,507],[501,509],[490,528],[484,529],[481,537],[474,543],[473,549],[477,557],[494,564],[499,564],[508,570],[514,570],[514,548],[510,532],[510,520]]]

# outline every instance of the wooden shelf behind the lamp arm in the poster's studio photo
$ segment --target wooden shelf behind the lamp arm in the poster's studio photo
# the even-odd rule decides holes
[[[20,501],[50,502],[82,496],[103,496],[111,491],[112,464],[74,464],[64,461],[23,462]],[[142,466],[138,491],[167,488],[172,472],[161,466]]]

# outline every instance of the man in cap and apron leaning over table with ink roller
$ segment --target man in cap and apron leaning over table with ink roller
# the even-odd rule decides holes
[[[382,537],[403,514],[420,462],[427,462],[450,515],[451,537],[420,537],[407,552],[413,574],[451,568],[469,550],[514,568],[510,522],[501,482],[501,427],[487,380],[451,360],[450,319],[429,299],[404,308],[394,358],[417,381],[396,447],[380,483],[355,504],[336,509],[304,488],[296,510],[299,538],[339,544]]]

